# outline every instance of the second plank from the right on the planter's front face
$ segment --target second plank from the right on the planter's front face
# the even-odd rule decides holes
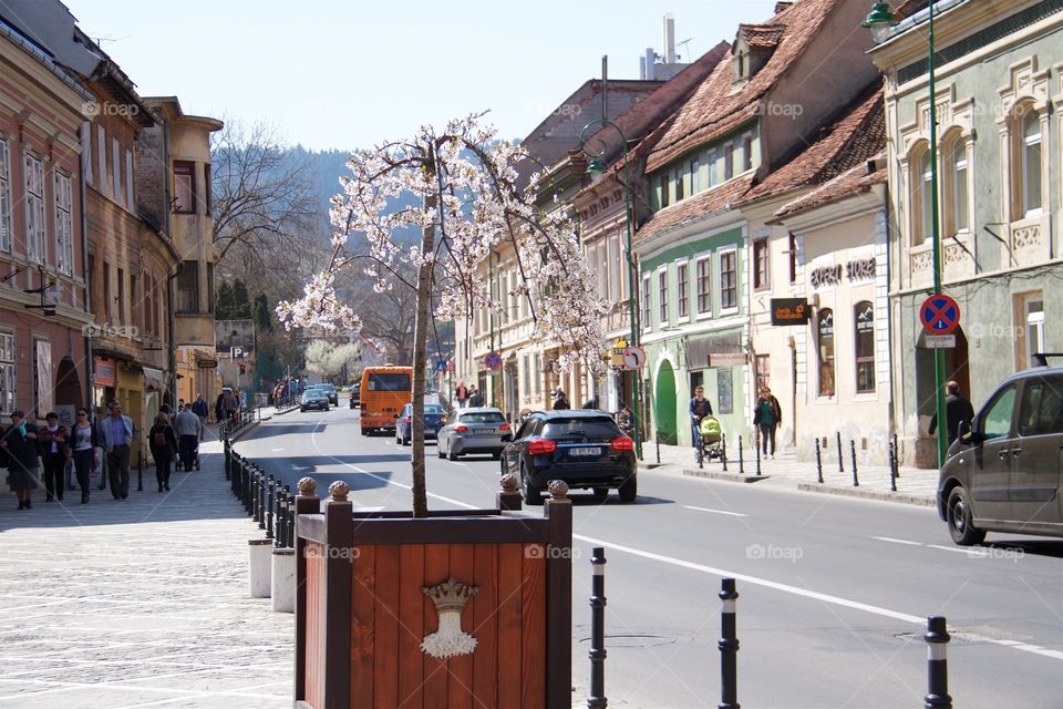
[[[498,545],[498,706],[520,707],[524,545]]]

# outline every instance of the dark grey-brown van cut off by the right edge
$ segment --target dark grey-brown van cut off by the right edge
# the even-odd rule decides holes
[[[1063,367],[1009,377],[959,424],[941,466],[938,514],[952,541],[980,544],[987,532],[1063,536],[1061,451]]]

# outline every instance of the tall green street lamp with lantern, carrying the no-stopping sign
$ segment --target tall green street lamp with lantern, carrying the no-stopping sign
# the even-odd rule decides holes
[[[938,228],[938,111],[933,82],[933,3],[930,0],[930,27],[928,42],[930,44],[927,56],[927,72],[930,90],[930,248],[933,254],[933,295],[941,292],[941,235]],[[881,43],[889,38],[890,28],[897,24],[897,18],[890,10],[888,2],[876,2],[864,27],[870,29],[875,43]],[[933,390],[935,411],[938,421],[938,467],[945,464],[945,456],[949,450],[949,429],[957,422],[946,419],[945,410],[945,351],[933,350]],[[945,432],[946,435],[941,435]]]

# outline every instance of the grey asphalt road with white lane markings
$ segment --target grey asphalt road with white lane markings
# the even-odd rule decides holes
[[[410,508],[410,449],[361,436],[340,403],[265,422],[237,451],[286,483],[343,480],[357,506]],[[430,507],[493,505],[489,456],[440,460],[430,442],[426,460]],[[739,579],[744,707],[922,707],[929,615],[953,635],[956,707],[1063,707],[1063,542],[991,535],[967,551],[930,508],[652,471],[639,493],[572,494],[574,706],[588,693],[590,551],[605,546],[610,707],[720,701],[723,576]]]

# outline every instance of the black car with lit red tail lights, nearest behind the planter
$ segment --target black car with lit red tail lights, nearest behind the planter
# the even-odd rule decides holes
[[[616,489],[622,502],[638,494],[634,441],[603,411],[535,411],[502,452],[502,474],[513,473],[525,503],[543,503],[551,480],[590,489],[605,497]]]

